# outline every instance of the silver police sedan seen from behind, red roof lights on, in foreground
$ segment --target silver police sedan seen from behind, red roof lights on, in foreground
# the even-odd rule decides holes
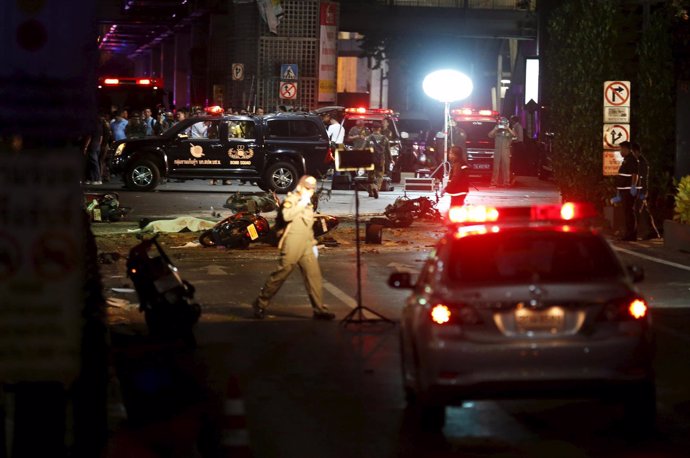
[[[620,400],[651,430],[654,337],[643,273],[624,267],[584,205],[452,208],[400,320],[403,384],[423,426],[467,400]]]

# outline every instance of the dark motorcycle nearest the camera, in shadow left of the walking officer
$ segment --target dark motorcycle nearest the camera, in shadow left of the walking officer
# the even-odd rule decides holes
[[[194,347],[193,327],[201,316],[201,306],[193,302],[194,286],[180,277],[157,236],[143,239],[129,251],[127,276],[134,284],[149,333],[181,339]]]

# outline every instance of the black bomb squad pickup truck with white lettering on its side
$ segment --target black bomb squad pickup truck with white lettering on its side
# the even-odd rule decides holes
[[[304,174],[324,175],[333,158],[321,118],[307,113],[194,117],[113,148],[111,171],[139,191],[174,178],[242,179],[286,193]]]

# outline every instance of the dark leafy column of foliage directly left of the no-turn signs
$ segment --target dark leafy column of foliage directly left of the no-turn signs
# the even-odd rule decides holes
[[[570,0],[548,24],[543,87],[556,133],[555,178],[567,200],[601,202],[609,194],[602,174],[603,83],[626,76],[605,45],[617,41],[615,17],[610,0]]]

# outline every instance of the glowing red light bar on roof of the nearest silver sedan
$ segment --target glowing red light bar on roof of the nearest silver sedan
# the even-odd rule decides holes
[[[451,224],[477,224],[502,221],[577,221],[597,216],[590,203],[566,202],[563,205],[535,205],[533,207],[487,207],[465,205],[451,207],[448,220]]]

